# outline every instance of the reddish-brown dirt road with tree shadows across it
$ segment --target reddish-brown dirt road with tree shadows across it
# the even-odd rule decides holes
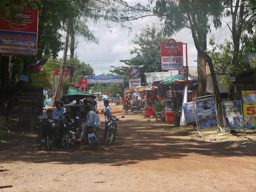
[[[16,133],[0,143],[0,191],[256,191],[255,133],[195,134],[127,115],[110,147],[44,152],[35,134]]]

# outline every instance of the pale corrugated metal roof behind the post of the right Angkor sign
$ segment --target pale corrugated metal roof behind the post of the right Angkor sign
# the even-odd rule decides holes
[[[178,70],[169,72],[154,72],[154,73],[144,73],[146,76],[147,86],[151,86],[154,81],[164,80],[171,75],[177,75]]]

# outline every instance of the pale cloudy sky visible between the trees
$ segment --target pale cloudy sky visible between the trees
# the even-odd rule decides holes
[[[132,0],[131,0],[132,1]],[[147,0],[141,0],[142,3],[147,3]],[[134,20],[129,29],[121,28],[118,25],[114,25],[112,31],[110,32],[104,22],[97,25],[91,24],[90,29],[94,31],[96,37],[99,37],[99,44],[93,42],[88,43],[79,38],[79,43],[76,49],[76,54],[80,61],[89,63],[95,72],[95,75],[107,74],[112,68],[110,66],[125,66],[120,59],[130,59],[132,56],[130,50],[136,45],[133,44],[132,38],[135,34],[139,34],[140,30],[146,25],[157,25],[160,24],[158,17],[147,17],[140,20]],[[225,38],[230,39],[230,31],[223,22],[223,27],[221,29],[215,30],[211,29],[211,33],[214,34],[218,42],[223,42]],[[207,42],[209,41],[210,34],[207,36]],[[187,60],[189,68],[195,68],[197,66],[197,50],[194,46],[194,41],[189,29],[184,29],[177,33],[174,38],[176,41],[182,41],[187,43]],[[183,55],[185,55],[185,47],[183,47]],[[62,57],[63,52],[59,53],[59,58]],[[185,56],[183,56],[183,62],[185,66]]]

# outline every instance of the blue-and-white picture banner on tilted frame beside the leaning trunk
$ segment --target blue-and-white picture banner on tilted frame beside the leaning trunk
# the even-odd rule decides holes
[[[199,129],[202,131],[218,127],[214,97],[198,99],[193,102],[197,111]]]

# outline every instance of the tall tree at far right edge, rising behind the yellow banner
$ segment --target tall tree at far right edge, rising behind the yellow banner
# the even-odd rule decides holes
[[[229,71],[229,75],[232,77],[241,72],[244,49],[246,48],[247,52],[252,52],[256,47],[256,3],[253,0],[230,1],[226,15],[230,15],[232,18],[232,26],[229,27],[232,33],[233,44],[233,58]],[[229,100],[233,100],[234,83],[230,81],[227,83],[229,84],[228,98]]]

